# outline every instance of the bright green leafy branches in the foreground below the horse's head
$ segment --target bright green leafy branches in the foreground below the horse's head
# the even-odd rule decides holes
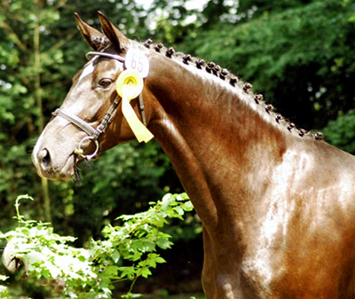
[[[75,238],[53,232],[48,223],[25,220],[20,215],[19,196],[15,208],[18,227],[2,233],[0,238],[13,247],[12,255],[24,264],[29,278],[51,281],[64,288],[67,298],[111,298],[114,284],[130,280],[124,298],[134,298],[132,288],[139,277],[147,278],[151,269],[165,260],[157,249],[171,247],[170,234],[162,231],[169,219],[182,220],[193,206],[185,193],[166,194],[162,201],[151,202],[150,209],[136,215],[123,215],[121,226],[106,225],[101,240],[91,240],[87,248],[69,246]],[[0,277],[0,279],[5,279]],[[0,287],[1,294],[9,294]]]

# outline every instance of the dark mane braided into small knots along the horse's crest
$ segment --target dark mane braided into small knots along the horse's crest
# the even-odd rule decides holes
[[[254,94],[252,91],[252,85],[250,83],[243,82],[237,76],[231,74],[226,68],[222,68],[218,66],[214,62],[205,62],[203,59],[198,59],[192,57],[190,54],[185,54],[183,52],[176,52],[173,47],[165,48],[162,43],[154,44],[151,39],[148,39],[143,45],[147,49],[154,49],[154,51],[162,53],[166,57],[170,59],[177,59],[182,61],[185,65],[193,65],[201,71],[205,71],[210,75],[214,75],[219,78],[219,80],[225,81],[229,83],[233,87],[240,88],[243,90],[245,94],[250,96],[250,99],[254,99],[256,105],[264,108],[264,112],[273,116],[275,122],[285,127],[289,132],[296,131],[299,137],[311,137],[316,140],[323,139],[323,135],[321,132],[317,132],[312,134],[312,131],[307,131],[301,128],[297,128],[294,122],[290,122],[288,119],[283,117],[281,114],[277,114],[274,111],[274,107],[271,104],[267,104],[264,102],[264,97],[261,94]]]

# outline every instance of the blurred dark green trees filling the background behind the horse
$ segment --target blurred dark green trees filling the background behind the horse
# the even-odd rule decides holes
[[[22,207],[25,216],[48,218],[30,153],[85,63],[89,48],[76,28],[74,12],[99,28],[100,10],[130,38],[151,37],[214,60],[253,83],[257,93],[297,125],[324,128],[327,141],[355,153],[354,0],[208,0],[193,8],[193,1],[154,0],[145,9],[143,2],[133,0],[0,1],[2,231],[12,228],[12,207],[20,194],[35,198]],[[77,246],[99,238],[102,226],[117,216],[144,210],[164,193],[183,191],[155,142],[117,146],[81,169],[82,185],[49,184],[53,226],[58,233],[77,237]],[[200,275],[201,235],[194,233],[199,227],[191,215],[185,224],[170,228],[177,248],[178,242],[181,248],[199,244],[187,257],[172,249],[170,260],[179,261],[180,267],[176,284],[186,275]],[[169,264],[169,256],[164,258]],[[193,260],[196,268],[190,266]]]

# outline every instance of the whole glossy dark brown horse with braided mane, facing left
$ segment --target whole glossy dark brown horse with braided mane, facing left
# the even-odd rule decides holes
[[[84,158],[140,134],[115,89],[135,49],[141,66],[130,67],[149,73],[130,106],[201,217],[207,298],[355,298],[354,157],[296,129],[216,64],[99,19],[104,34],[76,15],[94,52],[36,143],[38,173],[72,177]]]

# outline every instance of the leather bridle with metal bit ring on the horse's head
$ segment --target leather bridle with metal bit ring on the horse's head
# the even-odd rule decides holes
[[[90,51],[86,54],[87,59],[91,59],[93,56],[100,56],[108,59],[114,59],[121,62],[122,64],[124,64],[125,62],[125,58],[117,54],[110,54],[110,53],[100,52],[100,51]],[[142,121],[146,126],[146,113],[145,113],[145,106],[144,106],[142,93],[140,93],[138,98],[139,98],[139,111],[142,116]],[[83,159],[88,161],[95,158],[95,156],[99,152],[99,137],[101,136],[101,134],[104,134],[106,132],[108,126],[114,120],[114,116],[117,113],[117,109],[118,106],[120,105],[121,99],[122,98],[120,98],[119,95],[117,95],[114,98],[114,102],[108,108],[106,114],[104,115],[102,121],[99,123],[99,126],[97,128],[94,128],[93,126],[91,126],[91,124],[83,121],[82,118],[80,118],[76,114],[72,114],[66,109],[59,108],[52,113],[53,116],[60,116],[66,119],[68,122],[73,123],[76,127],[83,130],[88,135],[79,142],[78,147],[74,151],[75,155],[80,156]],[[82,146],[83,146],[83,142],[86,140],[91,140],[96,146],[95,151],[91,154],[83,153]]]

